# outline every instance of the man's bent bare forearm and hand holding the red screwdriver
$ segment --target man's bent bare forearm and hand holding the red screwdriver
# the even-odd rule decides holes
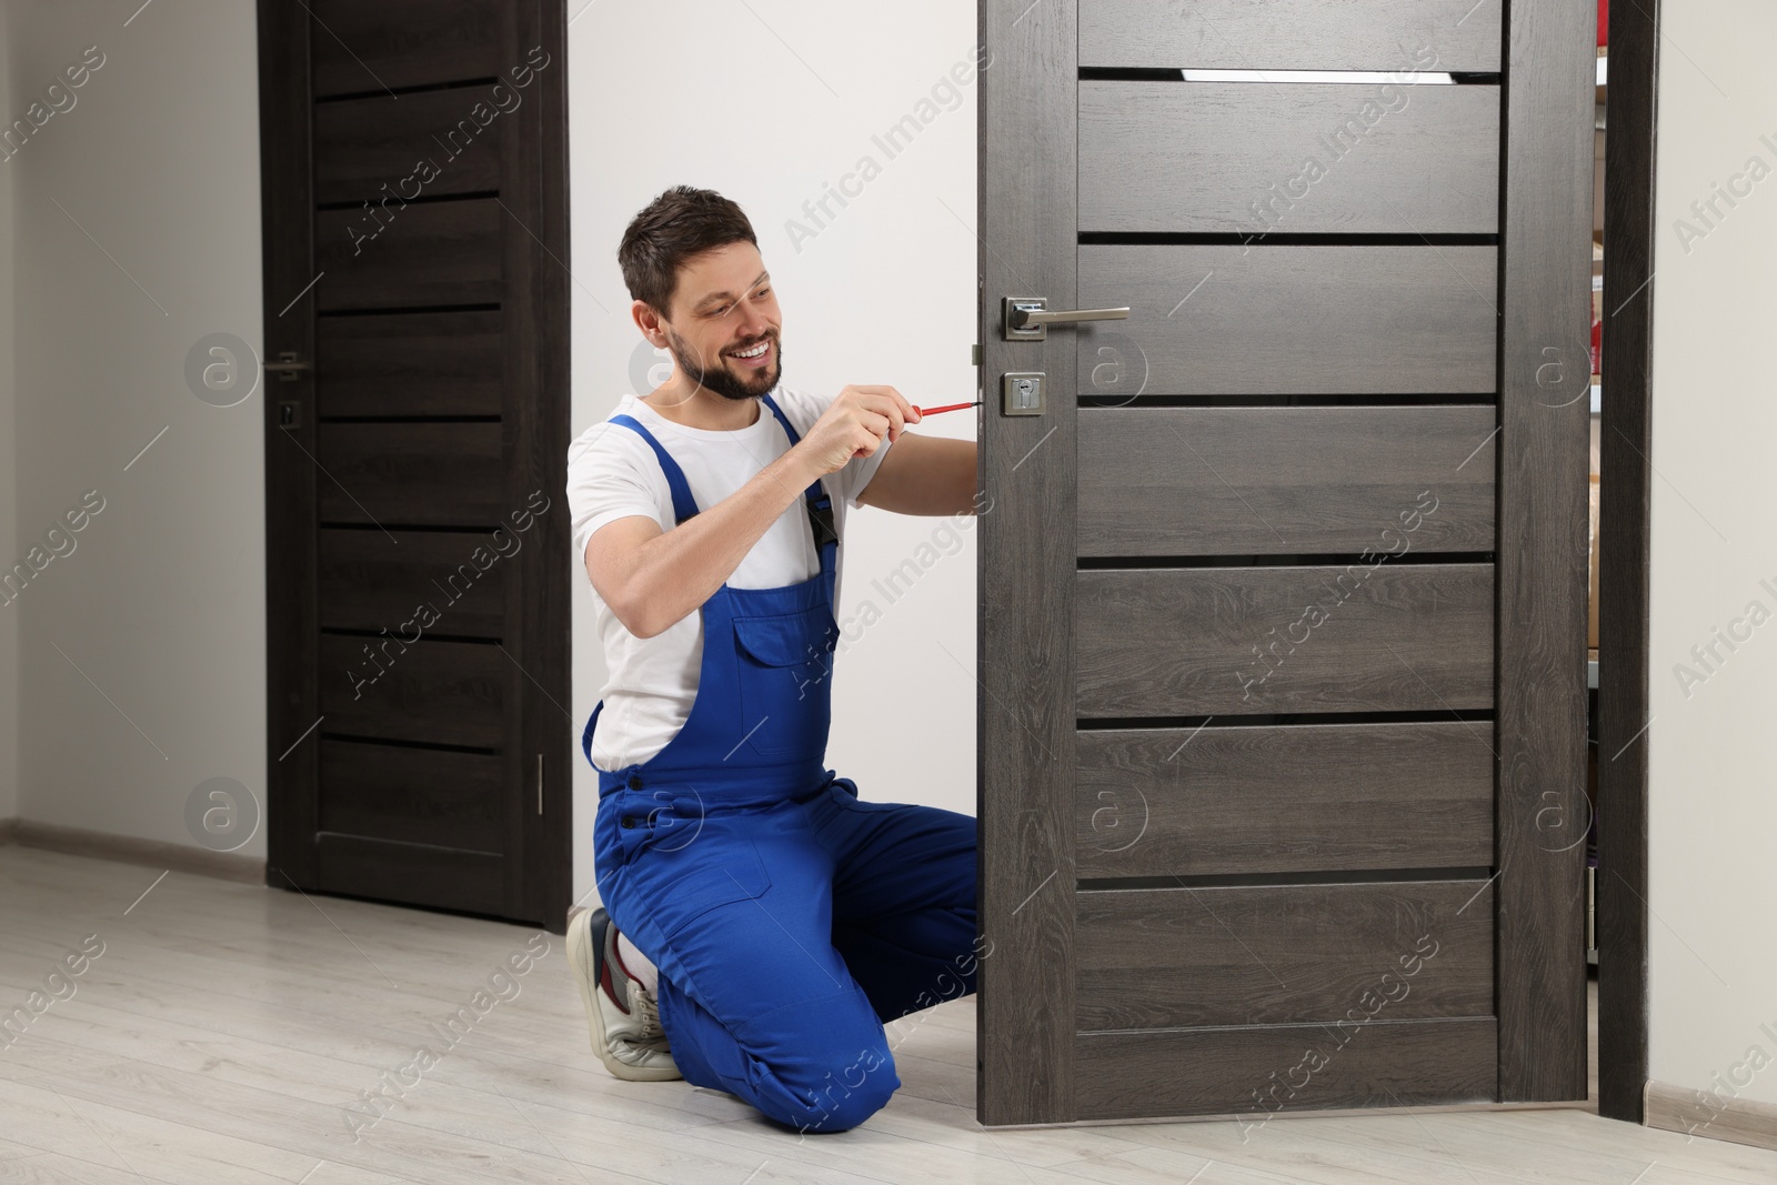
[[[592,586],[636,638],[666,631],[734,576],[809,485],[853,457],[869,457],[883,437],[899,437],[910,410],[892,387],[846,387],[800,444],[693,519],[661,531],[654,519],[631,515],[594,531],[586,540]]]

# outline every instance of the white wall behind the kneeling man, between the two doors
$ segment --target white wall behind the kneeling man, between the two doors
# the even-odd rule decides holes
[[[972,64],[974,5],[569,0],[569,12],[576,433],[631,389],[641,336],[617,242],[677,183],[716,188],[753,220],[784,309],[787,386],[881,382],[913,403],[974,398],[974,87],[954,110],[942,91],[940,103],[919,107],[956,64]],[[908,114],[929,123],[888,158],[873,137]],[[835,217],[816,227],[803,203],[846,183],[865,155],[880,176],[849,206],[830,201]],[[791,219],[814,238],[793,242]],[[956,412],[920,430],[972,437],[974,419]],[[862,636],[855,625],[858,640],[835,666],[828,764],[864,798],[974,814],[974,531],[892,604],[873,588],[940,522],[858,510],[848,524],[841,624],[862,620],[865,599],[881,620]],[[578,558],[563,563],[585,588]],[[574,604],[581,723],[606,673],[588,597]],[[576,895],[594,887],[595,803],[597,778],[576,752]]]

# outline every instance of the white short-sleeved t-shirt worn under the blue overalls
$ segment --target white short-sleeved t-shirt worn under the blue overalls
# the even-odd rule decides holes
[[[798,437],[805,437],[832,403],[832,398],[784,387],[775,389],[771,398],[789,416]],[[784,426],[762,402],[759,419],[736,432],[675,425],[633,394],[626,394],[613,414],[634,418],[679,462],[698,510],[709,510],[729,497],[789,451]],[[846,508],[857,505],[887,453],[888,442],[883,441],[871,457],[853,458],[821,478],[833,499],[833,529],[841,538]],[[569,446],[567,505],[574,519],[574,556],[581,570],[586,567],[586,544],[608,522],[649,515],[663,531],[675,524],[672,489],[654,449],[634,428],[610,421],[586,428]],[[782,588],[819,570],[821,556],[814,549],[809,512],[803,499],[796,497],[753,544],[727,583],[734,588]],[[590,583],[588,579],[588,586]],[[693,609],[659,634],[636,638],[617,620],[597,588],[592,590],[592,602],[604,661],[611,672],[602,691],[604,711],[592,734],[592,764],[599,769],[622,769],[666,748],[691,714],[704,659],[704,615]]]

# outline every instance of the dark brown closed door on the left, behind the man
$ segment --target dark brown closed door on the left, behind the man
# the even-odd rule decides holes
[[[261,0],[268,879],[560,927],[562,0]]]

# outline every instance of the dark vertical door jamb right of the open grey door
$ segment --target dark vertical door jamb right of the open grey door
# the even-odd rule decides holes
[[[1647,670],[1660,0],[1617,7],[1605,160],[1598,615],[1598,1114],[1642,1123],[1647,1057]],[[1631,298],[1633,297],[1633,298]]]

